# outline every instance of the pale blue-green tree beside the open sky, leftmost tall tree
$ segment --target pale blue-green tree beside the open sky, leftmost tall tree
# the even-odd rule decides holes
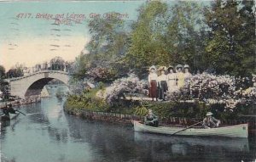
[[[119,18],[118,13],[107,14],[111,15],[110,19],[94,18],[89,21],[90,42],[85,46],[89,53],[81,53],[76,58],[73,64],[73,77],[83,79],[91,70],[106,68],[106,74],[111,74],[109,77],[125,72],[119,67],[123,67],[120,64],[129,42],[127,25],[125,20]]]

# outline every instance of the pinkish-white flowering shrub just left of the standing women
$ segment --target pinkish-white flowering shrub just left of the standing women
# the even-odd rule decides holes
[[[128,77],[123,77],[116,81],[113,81],[110,87],[106,88],[106,99],[108,103],[112,103],[114,100],[124,97],[125,94],[145,91],[147,81],[139,80],[137,75],[131,73]]]

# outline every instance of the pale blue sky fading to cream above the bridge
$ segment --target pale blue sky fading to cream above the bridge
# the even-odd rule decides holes
[[[0,1],[0,64],[32,67],[55,56],[71,61],[90,41],[90,16],[116,12],[136,20],[145,1]],[[68,20],[67,20],[68,19]]]

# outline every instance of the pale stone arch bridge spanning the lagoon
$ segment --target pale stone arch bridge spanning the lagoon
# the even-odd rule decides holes
[[[31,75],[7,79],[7,81],[10,86],[10,95],[26,98],[32,95],[39,95],[44,86],[53,79],[67,85],[69,76],[64,71],[42,70]]]

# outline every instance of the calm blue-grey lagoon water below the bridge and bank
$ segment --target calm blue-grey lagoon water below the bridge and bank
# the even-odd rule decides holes
[[[53,88],[52,88],[53,89]],[[55,88],[56,89],[56,88]],[[253,161],[255,141],[237,138],[166,137],[131,126],[65,115],[63,101],[44,98],[23,105],[1,126],[2,161]]]

